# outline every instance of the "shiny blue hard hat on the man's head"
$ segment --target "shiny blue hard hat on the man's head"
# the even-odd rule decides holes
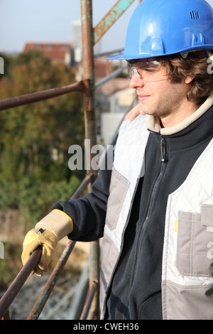
[[[131,60],[213,49],[213,10],[204,0],[143,0],[131,19],[124,53]]]

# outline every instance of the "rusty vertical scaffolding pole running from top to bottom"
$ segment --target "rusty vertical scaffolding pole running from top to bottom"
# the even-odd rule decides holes
[[[81,0],[82,15],[82,66],[84,79],[88,80],[89,87],[84,93],[84,122],[85,139],[89,139],[89,146],[85,147],[87,162],[87,174],[93,173],[91,167],[92,153],[91,148],[96,144],[96,122],[95,122],[95,93],[94,93],[94,31],[92,27],[92,0]],[[88,142],[88,141],[87,141]],[[91,185],[88,187],[90,191]],[[89,252],[89,286],[92,282],[99,282],[99,242],[90,243]],[[91,313],[96,314],[95,319],[99,318],[99,289],[94,297],[91,306]]]

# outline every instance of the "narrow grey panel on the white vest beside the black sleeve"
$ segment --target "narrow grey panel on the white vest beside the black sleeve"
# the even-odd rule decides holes
[[[122,205],[124,204],[128,189],[129,181],[113,168],[111,173],[106,216],[106,224],[111,231],[116,228],[119,214],[121,212]]]

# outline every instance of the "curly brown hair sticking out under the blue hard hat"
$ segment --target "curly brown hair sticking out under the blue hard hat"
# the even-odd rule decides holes
[[[187,93],[187,99],[194,101],[197,105],[202,104],[213,92],[213,75],[208,68],[209,55],[207,50],[196,50],[188,53],[182,58],[180,53],[158,57],[161,65],[169,70],[171,82],[180,82],[188,75],[195,78],[190,82],[191,88]]]

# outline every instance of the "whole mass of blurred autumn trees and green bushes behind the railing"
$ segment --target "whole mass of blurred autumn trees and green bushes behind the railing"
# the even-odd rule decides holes
[[[1,99],[63,87],[75,72],[38,52],[6,57]],[[0,208],[18,208],[35,224],[56,200],[68,200],[84,176],[70,171],[68,149],[84,143],[82,93],[0,112]]]

